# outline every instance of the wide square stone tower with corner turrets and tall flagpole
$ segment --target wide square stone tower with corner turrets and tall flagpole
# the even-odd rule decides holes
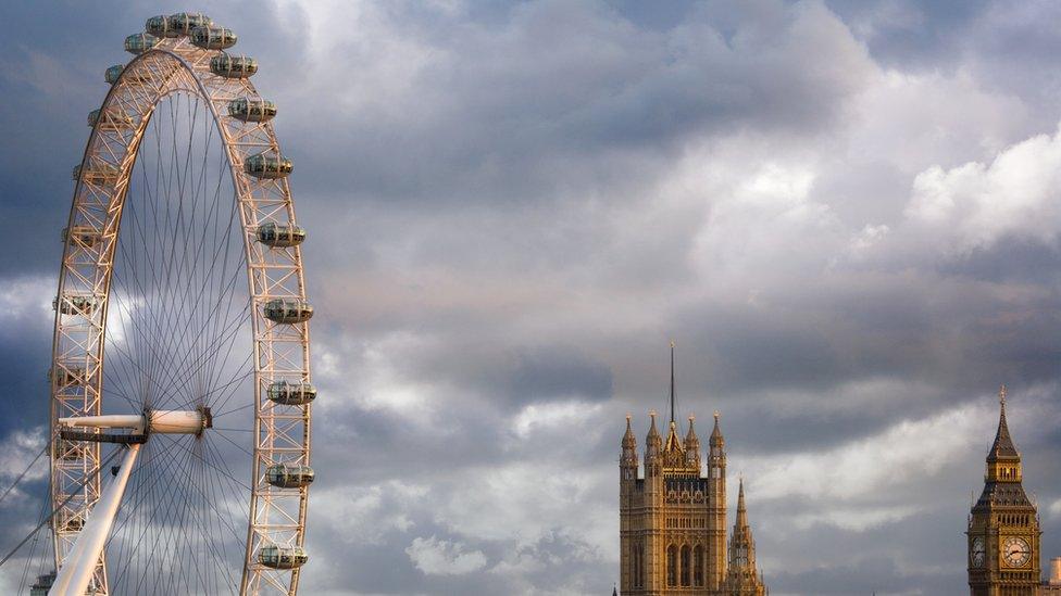
[[[650,413],[642,478],[632,418],[626,417],[619,465],[620,592],[722,596],[726,578],[725,441],[715,413],[704,474],[696,420],[689,417],[683,439],[674,419],[674,396],[672,344],[666,439],[657,427],[657,414]]]

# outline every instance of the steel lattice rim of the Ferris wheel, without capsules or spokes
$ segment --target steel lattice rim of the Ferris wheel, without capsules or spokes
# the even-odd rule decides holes
[[[308,304],[302,258],[298,243],[270,245],[261,240],[260,230],[270,224],[297,229],[294,203],[286,178],[247,172],[248,160],[259,154],[278,156],[279,145],[267,118],[248,122],[229,114],[230,102],[257,99],[259,94],[247,77],[221,76],[215,74],[216,68],[211,69],[211,59],[225,55],[197,47],[187,35],[162,37],[136,55],[103,100],[84,158],[75,170],[50,370],[55,565],[57,569],[63,566],[104,484],[101,443],[62,435],[60,420],[102,415],[107,402],[113,402],[104,386],[104,347],[130,173],[157,106],[166,98],[183,94],[198,98],[209,109],[220,134],[232,173],[250,294],[249,321],[245,319],[242,325],[249,322],[252,338],[253,402],[250,395],[242,398],[254,413],[253,446],[248,449],[252,453],[251,481],[246,485],[247,537],[238,591],[295,594],[299,567],[265,565],[261,553],[263,548],[303,546],[308,486],[270,483],[266,471],[277,464],[310,465],[311,406],[308,402],[271,401],[269,391],[284,381],[309,383],[310,333],[304,320],[308,317],[277,322],[277,317],[266,316],[266,305],[277,299]],[[105,551],[99,556],[90,586],[96,594],[111,593]],[[237,586],[230,589],[235,592]]]

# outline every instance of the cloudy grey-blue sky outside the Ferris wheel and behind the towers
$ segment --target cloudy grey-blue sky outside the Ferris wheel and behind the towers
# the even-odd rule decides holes
[[[197,8],[101,4],[3,12],[4,485],[102,71]],[[773,594],[968,593],[1003,382],[1061,556],[1061,5],[215,4],[311,234],[308,594],[610,594],[671,339]]]

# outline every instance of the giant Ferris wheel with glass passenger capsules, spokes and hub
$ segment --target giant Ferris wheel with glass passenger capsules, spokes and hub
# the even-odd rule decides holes
[[[54,302],[40,593],[296,594],[310,467],[297,225],[254,59],[155,16],[105,72]],[[47,585],[51,584],[51,585]]]

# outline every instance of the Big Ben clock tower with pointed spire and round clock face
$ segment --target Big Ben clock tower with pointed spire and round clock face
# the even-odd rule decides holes
[[[987,454],[984,492],[969,518],[972,596],[1039,594],[1039,518],[1021,484],[1021,454],[1006,423],[1006,386],[995,444]]]

